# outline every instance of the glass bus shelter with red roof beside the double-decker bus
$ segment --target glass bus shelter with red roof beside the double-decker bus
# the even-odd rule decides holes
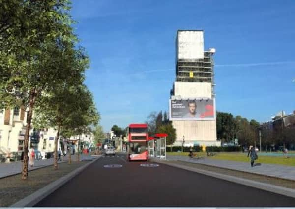
[[[148,139],[148,153],[150,157],[166,159],[166,137],[165,133],[158,133]]]

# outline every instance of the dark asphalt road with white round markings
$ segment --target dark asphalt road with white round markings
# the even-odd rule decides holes
[[[147,163],[159,166],[140,166]],[[111,164],[122,167],[104,167]],[[117,154],[100,158],[35,206],[295,207],[295,198]]]

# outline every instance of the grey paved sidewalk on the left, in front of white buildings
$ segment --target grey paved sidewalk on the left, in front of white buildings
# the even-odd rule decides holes
[[[80,160],[90,160],[97,156],[91,156],[91,155],[80,155]],[[68,157],[62,157],[62,161],[58,161],[58,163],[63,163],[68,160]],[[71,156],[72,161],[76,161],[77,155]],[[52,165],[54,163],[54,158],[45,159],[45,160],[35,160],[34,166],[30,167],[28,166],[29,171],[39,169],[48,165]],[[4,178],[7,176],[19,174],[22,172],[23,162],[22,161],[16,161],[11,163],[1,163],[0,164],[0,178]]]

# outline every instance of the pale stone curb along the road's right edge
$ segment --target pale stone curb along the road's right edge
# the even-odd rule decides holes
[[[220,173],[215,173],[215,172],[211,172],[211,171],[192,168],[192,167],[185,166],[185,165],[177,165],[177,164],[173,164],[173,163],[167,163],[167,162],[159,161],[159,160],[156,160],[156,159],[153,159],[152,161],[157,162],[157,163],[162,163],[162,164],[165,164],[165,165],[169,165],[169,166],[172,166],[172,167],[177,167],[177,168],[181,168],[181,169],[184,169],[184,170],[192,171],[192,172],[195,172],[195,173],[204,174],[204,175],[207,175],[207,176],[211,176],[211,177],[214,177],[214,178],[226,180],[226,181],[229,181],[229,182],[234,182],[236,184],[250,186],[250,187],[254,187],[254,188],[258,188],[258,189],[262,189],[262,190],[266,190],[266,191],[270,191],[270,192],[273,192],[273,193],[277,193],[277,194],[281,194],[281,195],[285,195],[285,196],[288,196],[288,197],[295,198],[295,189],[285,188],[285,187],[282,187],[282,186],[269,185],[269,184],[266,184],[266,183],[260,183],[260,182],[256,182],[256,181],[252,181],[252,180],[248,180],[248,179],[242,179],[242,178],[229,176],[229,175],[225,175],[225,174],[220,174]]]

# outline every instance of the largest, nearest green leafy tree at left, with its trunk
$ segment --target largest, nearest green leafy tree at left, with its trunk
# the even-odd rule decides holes
[[[77,38],[68,0],[7,2],[0,1],[7,15],[0,23],[0,108],[29,108],[22,172],[22,179],[27,179],[29,130],[35,106],[56,84],[82,81],[88,59],[83,50],[74,49]]]

